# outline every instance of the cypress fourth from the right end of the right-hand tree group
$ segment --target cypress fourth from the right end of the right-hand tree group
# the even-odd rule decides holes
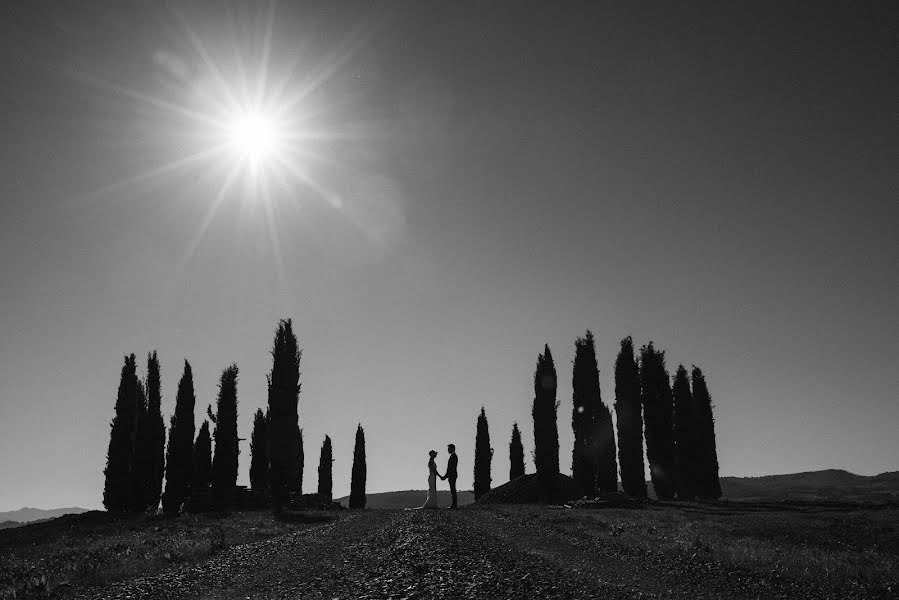
[[[621,340],[621,351],[615,360],[615,414],[618,421],[621,486],[628,496],[646,498],[640,373],[634,357],[634,342],[630,336]]]

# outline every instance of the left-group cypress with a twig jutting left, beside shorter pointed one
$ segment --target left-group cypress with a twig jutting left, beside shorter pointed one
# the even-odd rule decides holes
[[[237,365],[222,372],[215,414],[215,454],[212,457],[212,498],[216,508],[231,506],[237,485]]]

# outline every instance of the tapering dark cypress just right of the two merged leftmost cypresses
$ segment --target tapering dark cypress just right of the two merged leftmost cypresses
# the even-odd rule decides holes
[[[169,422],[169,445],[165,454],[165,492],[162,510],[178,514],[181,505],[190,498],[193,479],[194,444],[194,376],[190,363],[184,361],[184,373],[178,382],[175,413]]]

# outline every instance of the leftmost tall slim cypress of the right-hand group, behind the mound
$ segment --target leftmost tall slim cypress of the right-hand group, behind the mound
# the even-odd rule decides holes
[[[534,467],[543,490],[545,502],[553,502],[556,495],[556,480],[559,475],[559,429],[556,411],[556,367],[549,345],[543,347],[543,354],[537,355],[534,371],[534,403],[531,415],[534,418]]]

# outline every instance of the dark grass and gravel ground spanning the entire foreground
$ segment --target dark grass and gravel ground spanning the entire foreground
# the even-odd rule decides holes
[[[101,517],[109,517],[91,513],[8,530],[0,534],[0,598],[836,599],[899,592],[896,507],[495,505],[335,514],[326,521],[238,513],[104,524]],[[87,518],[97,522],[80,528],[78,519]],[[43,529],[36,536],[33,528]]]

